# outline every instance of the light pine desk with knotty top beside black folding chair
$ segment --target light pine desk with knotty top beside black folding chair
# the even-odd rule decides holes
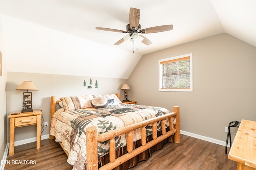
[[[256,170],[256,121],[241,121],[228,158],[238,162],[238,170]]]

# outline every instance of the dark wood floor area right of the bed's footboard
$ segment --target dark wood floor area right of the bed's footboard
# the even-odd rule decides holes
[[[167,143],[164,149],[154,152],[150,159],[129,170],[237,169],[237,162],[228,159],[224,146],[186,135],[180,135],[180,141],[180,144]]]

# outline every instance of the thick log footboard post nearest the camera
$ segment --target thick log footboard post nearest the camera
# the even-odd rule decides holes
[[[97,127],[86,128],[86,169],[98,170],[98,131]]]

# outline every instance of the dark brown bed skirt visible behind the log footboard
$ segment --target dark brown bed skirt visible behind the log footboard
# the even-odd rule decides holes
[[[168,130],[169,130],[169,128],[166,129],[166,131],[168,131]],[[162,135],[162,131],[158,131],[158,136],[160,136],[160,135]],[[152,141],[152,140],[153,140],[152,135],[147,137],[147,142]],[[157,145],[154,145],[150,149],[145,150],[144,152],[133,157],[132,159],[117,166],[116,168],[114,168],[114,170],[127,170],[128,168],[137,166],[139,162],[148,160],[148,158],[151,157],[151,155],[154,151],[163,149],[163,147],[164,147],[164,145],[166,145],[166,143],[174,143],[174,135],[168,137],[167,139],[164,139],[164,141],[158,143]],[[133,143],[133,149],[136,149],[137,147],[140,147],[140,146],[142,146],[141,140]],[[116,150],[116,158],[122,156],[123,154],[126,154],[127,152],[128,152],[127,146],[117,149]],[[106,155],[98,158],[98,167],[100,168],[101,166],[107,164],[108,162],[110,162],[109,154],[106,154]]]

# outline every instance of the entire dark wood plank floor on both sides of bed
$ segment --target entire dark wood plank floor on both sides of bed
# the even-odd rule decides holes
[[[54,140],[42,140],[40,149],[36,149],[36,142],[20,145],[14,152],[14,156],[7,157],[10,164],[6,161],[5,170],[72,170],[66,162],[68,157]],[[180,144],[166,144],[149,160],[129,170],[236,170],[236,167],[237,163],[225,154],[224,146],[181,135]]]

